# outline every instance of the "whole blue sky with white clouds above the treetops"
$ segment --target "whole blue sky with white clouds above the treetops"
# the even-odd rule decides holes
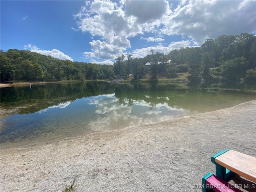
[[[113,64],[201,46],[206,39],[256,34],[256,1],[0,1],[1,50]]]

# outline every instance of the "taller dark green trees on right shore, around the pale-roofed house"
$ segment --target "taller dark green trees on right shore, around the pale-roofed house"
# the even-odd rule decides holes
[[[132,59],[132,55],[119,56],[114,63],[118,76],[134,74],[141,78],[146,73],[152,77],[163,74],[176,78],[178,73],[189,73],[193,83],[209,85],[218,83],[256,83],[256,36],[241,33],[207,39],[200,47],[172,50],[169,54],[150,51],[144,58]],[[171,60],[171,62],[168,62]],[[150,70],[144,64],[150,62]]]

